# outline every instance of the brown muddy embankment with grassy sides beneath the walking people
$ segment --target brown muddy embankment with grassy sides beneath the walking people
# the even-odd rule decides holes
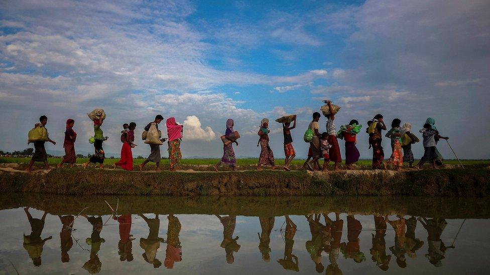
[[[490,196],[490,169],[422,171],[179,171],[0,167],[0,192],[113,195]]]

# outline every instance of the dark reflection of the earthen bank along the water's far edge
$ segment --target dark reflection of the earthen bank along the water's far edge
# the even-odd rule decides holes
[[[53,215],[219,214],[282,216],[310,213],[490,218],[490,198],[413,196],[127,196],[0,194],[0,209],[32,207]],[[109,206],[110,205],[110,206]],[[114,211],[113,211],[114,210]]]

